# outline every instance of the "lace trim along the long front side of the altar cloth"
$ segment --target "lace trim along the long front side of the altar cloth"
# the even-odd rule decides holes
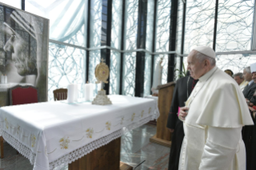
[[[120,129],[119,131],[113,132],[108,136],[104,136],[98,140],[95,140],[94,142],[91,142],[90,144],[87,144],[81,148],[75,149],[73,152],[70,152],[66,156],[62,156],[58,160],[51,162],[50,169],[60,170],[61,168],[67,166],[67,164],[71,164],[73,161],[78,160],[79,158],[87,155],[88,153],[92,152],[96,148],[100,148],[101,146],[110,143],[112,140],[116,140],[116,138],[119,138],[120,136],[124,135],[124,133],[131,131],[136,127],[140,127],[144,123],[148,123],[148,121],[155,119],[155,117],[156,115],[152,115],[144,119],[140,119],[140,121],[129,124],[128,126],[123,127],[123,129]]]

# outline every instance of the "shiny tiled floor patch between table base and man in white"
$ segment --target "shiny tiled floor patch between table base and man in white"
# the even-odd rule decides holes
[[[167,169],[170,149],[149,142],[149,138],[155,134],[156,126],[144,124],[122,136],[121,161],[135,168],[145,160],[136,170]]]

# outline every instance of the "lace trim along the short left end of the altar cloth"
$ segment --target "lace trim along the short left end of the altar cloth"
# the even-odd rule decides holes
[[[25,156],[28,160],[30,160],[30,164],[35,163],[35,153],[30,150],[30,148],[26,147],[26,145],[20,143],[13,136],[10,136],[9,133],[2,131],[2,137],[8,144],[10,144],[13,148],[15,148],[22,156]]]

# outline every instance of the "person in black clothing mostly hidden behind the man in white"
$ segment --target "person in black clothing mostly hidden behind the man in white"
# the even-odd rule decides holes
[[[173,132],[172,146],[169,156],[169,170],[177,170],[181,152],[181,144],[184,138],[183,122],[178,119],[177,113],[179,107],[185,106],[185,101],[189,98],[193,87],[196,86],[197,80],[189,76],[178,79],[173,92],[173,101],[169,111],[167,127]]]

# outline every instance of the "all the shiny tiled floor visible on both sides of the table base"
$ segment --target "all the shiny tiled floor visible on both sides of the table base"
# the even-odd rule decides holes
[[[149,142],[149,138],[156,134],[156,126],[144,124],[122,136],[121,161],[133,168],[141,162],[136,170],[168,168],[169,148]],[[32,170],[30,161],[22,155],[16,155],[14,148],[4,144],[5,158],[0,160],[0,170]],[[67,169],[67,168],[63,168]]]

